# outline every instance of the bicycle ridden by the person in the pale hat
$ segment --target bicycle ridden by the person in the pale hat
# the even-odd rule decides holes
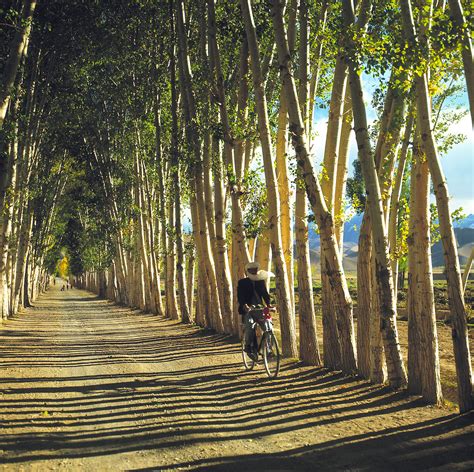
[[[245,351],[245,336],[242,335],[242,359],[245,370],[252,370],[258,363],[259,355],[263,357],[263,364],[268,377],[275,378],[280,372],[280,348],[273,331],[273,319],[271,311],[275,308],[265,307],[263,309],[254,308],[250,311],[253,318],[253,340],[252,346],[255,347],[255,359],[252,359]],[[260,326],[263,334],[260,343],[257,340],[256,326]],[[245,327],[243,328],[245,332]],[[244,334],[244,333],[242,333]]]

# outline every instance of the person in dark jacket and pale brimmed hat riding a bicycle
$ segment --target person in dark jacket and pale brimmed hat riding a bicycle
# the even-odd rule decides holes
[[[245,352],[251,359],[256,359],[253,352],[253,327],[257,313],[261,313],[261,308],[270,305],[270,294],[268,293],[265,281],[272,277],[272,272],[260,269],[258,262],[249,262],[245,266],[247,277],[240,279],[237,284],[237,299],[239,302],[239,313],[242,315],[244,325]]]

